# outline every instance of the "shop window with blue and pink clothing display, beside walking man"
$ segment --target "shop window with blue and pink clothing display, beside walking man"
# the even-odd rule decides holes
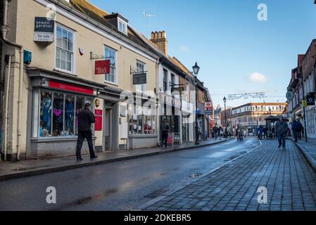
[[[34,90],[34,138],[72,137],[77,135],[77,115],[94,98],[60,91]]]

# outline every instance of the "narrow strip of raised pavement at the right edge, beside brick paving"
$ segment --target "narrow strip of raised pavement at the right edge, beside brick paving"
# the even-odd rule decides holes
[[[308,142],[302,139],[296,143],[296,146],[301,150],[312,169],[316,172],[316,139],[308,139]]]

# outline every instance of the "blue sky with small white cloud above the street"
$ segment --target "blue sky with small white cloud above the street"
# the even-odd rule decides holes
[[[286,101],[286,87],[297,55],[316,38],[314,0],[90,0],[108,12],[124,15],[147,35],[144,10],[156,14],[150,30],[165,30],[168,54],[205,82],[215,104],[228,94],[264,91],[265,102]],[[259,21],[258,4],[267,5],[267,21]],[[252,76],[251,76],[252,75]],[[252,78],[252,79],[251,79]],[[227,105],[263,102],[258,98]]]

